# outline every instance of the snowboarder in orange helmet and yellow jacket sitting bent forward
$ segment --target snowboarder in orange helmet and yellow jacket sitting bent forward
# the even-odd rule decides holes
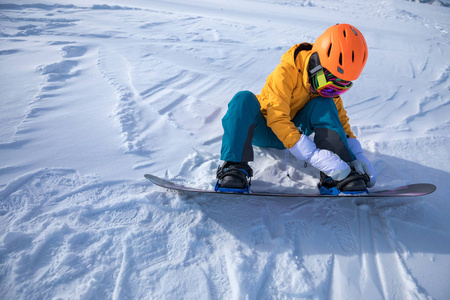
[[[222,119],[216,191],[248,192],[253,147],[289,149],[320,170],[322,194],[364,192],[375,169],[353,134],[341,94],[361,74],[368,49],[354,26],[328,28],[314,44],[293,46],[259,95],[237,93]],[[315,134],[314,142],[308,138]]]

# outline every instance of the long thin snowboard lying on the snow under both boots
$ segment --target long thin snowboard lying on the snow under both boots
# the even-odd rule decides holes
[[[430,183],[416,183],[409,184],[405,186],[400,186],[396,188],[391,188],[381,191],[369,191],[368,194],[353,194],[353,195],[321,195],[319,193],[268,193],[268,192],[255,192],[250,191],[250,193],[223,193],[215,192],[213,190],[203,190],[192,187],[183,186],[176,184],[165,179],[159,178],[154,175],[145,174],[144,177],[151,183],[178,192],[193,193],[193,194],[216,194],[216,195],[229,195],[229,196],[245,196],[245,197],[287,197],[287,198],[321,198],[321,197],[358,197],[358,198],[368,198],[368,197],[415,197],[424,196],[433,193],[436,190],[436,186]]]

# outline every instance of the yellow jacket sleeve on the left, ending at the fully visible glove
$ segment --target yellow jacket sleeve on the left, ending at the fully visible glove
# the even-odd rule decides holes
[[[296,80],[296,70],[288,64],[279,64],[267,78],[269,99],[267,104],[267,126],[269,126],[286,148],[292,148],[300,139],[300,131],[291,122],[290,101]]]

